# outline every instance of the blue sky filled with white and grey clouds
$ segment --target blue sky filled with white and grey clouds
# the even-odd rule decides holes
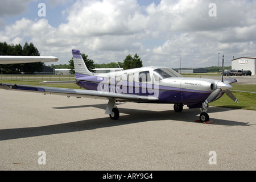
[[[72,49],[94,63],[141,57],[143,66],[225,66],[256,56],[256,0],[1,0],[0,42],[32,42],[51,64]]]

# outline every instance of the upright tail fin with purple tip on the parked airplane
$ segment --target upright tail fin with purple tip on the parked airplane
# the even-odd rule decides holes
[[[86,67],[80,51],[76,49],[72,49],[72,54],[73,54],[75,73],[80,73],[83,75],[93,75],[93,73],[90,72]]]

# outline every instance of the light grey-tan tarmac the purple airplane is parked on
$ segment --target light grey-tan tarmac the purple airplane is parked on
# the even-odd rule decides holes
[[[256,111],[126,103],[0,90],[0,170],[251,171]]]

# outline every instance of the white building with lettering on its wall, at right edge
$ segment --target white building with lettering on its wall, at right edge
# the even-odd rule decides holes
[[[236,59],[232,59],[232,69],[233,70],[250,70],[251,75],[255,75],[256,57],[239,57]]]

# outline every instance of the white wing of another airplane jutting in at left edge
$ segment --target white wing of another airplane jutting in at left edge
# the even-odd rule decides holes
[[[56,62],[58,60],[55,56],[0,56],[0,64]]]

